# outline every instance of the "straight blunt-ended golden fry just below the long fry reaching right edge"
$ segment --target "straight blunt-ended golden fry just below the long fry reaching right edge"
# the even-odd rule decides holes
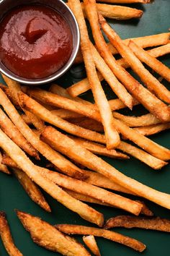
[[[108,192],[105,189],[87,184],[86,182],[72,179],[68,176],[64,176],[63,174],[58,174],[54,171],[48,171],[47,169],[40,168],[40,174],[50,182],[58,184],[60,187],[79,192],[89,197],[94,197],[97,200],[107,202],[109,205],[115,206],[116,208],[121,208],[122,210],[127,210],[128,212],[137,216],[140,214],[143,207],[143,205],[141,205],[139,202],[135,202],[126,197]]]

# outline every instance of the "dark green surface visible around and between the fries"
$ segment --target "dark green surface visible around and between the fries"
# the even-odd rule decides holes
[[[141,5],[135,4],[132,7],[138,7],[143,9],[144,14],[141,20],[131,20],[125,22],[111,21],[109,22],[114,25],[117,33],[122,38],[138,37],[143,35],[151,35],[156,33],[167,32],[169,29],[169,15],[170,15],[170,4],[169,0],[156,0],[153,4]],[[170,65],[170,59],[168,56],[161,58],[166,64]],[[58,84],[64,87],[68,87],[76,80],[79,80],[79,76],[83,75],[84,72],[79,72],[79,67],[71,68],[60,80]],[[3,82],[2,80],[0,80]],[[110,90],[107,90],[107,95],[112,98],[114,95]],[[91,93],[86,93],[84,98],[91,99]],[[141,114],[142,109],[135,108],[135,113]],[[151,137],[152,140],[169,147],[170,136],[169,132],[161,132],[159,135]],[[147,184],[155,189],[162,192],[170,193],[170,167],[166,166],[161,171],[154,171],[140,161],[130,158],[130,161],[118,161],[104,158],[112,166],[115,166],[122,173],[137,179],[143,184]],[[14,242],[17,247],[21,250],[24,256],[52,256],[59,255],[58,253],[50,252],[46,249],[38,247],[37,244],[32,242],[30,234],[24,230],[22,224],[19,222],[14,209],[23,210],[27,213],[31,213],[34,216],[39,216],[49,223],[72,223],[81,225],[91,225],[90,223],[82,220],[76,213],[66,209],[63,205],[56,202],[49,195],[45,195],[47,198],[52,213],[45,213],[39,206],[35,205],[30,200],[27,194],[24,192],[17,179],[14,176],[7,176],[6,174],[0,174],[0,210],[5,210],[7,218],[9,220],[10,227],[12,229],[12,235],[14,236]],[[169,210],[161,208],[152,202],[147,202],[148,206],[153,210],[156,216],[169,218]],[[104,213],[105,218],[125,214],[122,210],[107,208],[103,206],[92,205],[95,209]],[[167,256],[170,255],[169,239],[170,235],[161,233],[158,231],[146,231],[140,229],[115,229],[115,231],[131,236],[135,239],[140,240],[147,245],[147,249],[143,252],[145,256]],[[77,236],[81,241],[81,237]],[[99,249],[103,256],[120,255],[120,256],[135,256],[138,252],[133,251],[123,245],[115,242],[107,241],[106,239],[97,238]],[[3,244],[0,241],[0,255],[6,256],[6,251]],[[80,255],[81,256],[81,255]]]

